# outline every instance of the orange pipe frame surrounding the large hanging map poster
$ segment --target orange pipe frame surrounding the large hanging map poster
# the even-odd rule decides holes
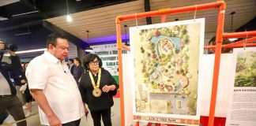
[[[122,77],[122,39],[121,39],[121,21],[122,20],[134,20],[138,18],[145,17],[156,17],[161,15],[167,15],[171,13],[184,13],[188,11],[195,11],[201,9],[212,9],[219,8],[218,13],[218,24],[216,30],[216,54],[215,54],[215,62],[214,62],[214,72],[213,72],[213,89],[212,89],[212,98],[211,98],[211,106],[209,110],[209,126],[213,126],[214,114],[215,114],[215,106],[216,106],[216,91],[218,84],[218,76],[220,69],[220,53],[221,53],[221,44],[223,41],[223,28],[224,28],[224,12],[226,9],[226,3],[223,1],[216,1],[205,3],[201,5],[195,6],[184,6],[174,9],[159,9],[156,11],[150,11],[145,13],[134,13],[121,15],[116,17],[116,33],[117,33],[117,50],[119,56],[119,88],[120,88],[120,112],[121,112],[121,126],[125,125],[125,113],[124,113],[124,101],[123,101],[123,77]]]

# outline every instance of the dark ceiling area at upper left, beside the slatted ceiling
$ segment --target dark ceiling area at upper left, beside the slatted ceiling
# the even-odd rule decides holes
[[[0,40],[14,43],[19,50],[44,48],[51,30],[43,28],[42,20],[88,9],[96,9],[134,0],[20,0],[0,6]],[[0,3],[1,4],[1,3]]]

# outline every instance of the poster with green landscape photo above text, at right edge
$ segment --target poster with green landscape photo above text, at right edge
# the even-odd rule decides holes
[[[256,47],[234,49],[226,126],[256,125]]]

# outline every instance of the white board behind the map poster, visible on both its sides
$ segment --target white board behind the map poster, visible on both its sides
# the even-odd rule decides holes
[[[124,87],[124,101],[125,101],[125,117],[126,126],[133,123],[133,109],[132,109],[132,92],[130,82],[130,54],[122,57],[123,61],[123,87]],[[232,72],[233,72],[233,54],[221,54],[220,57],[220,76],[218,82],[218,91],[216,98],[215,117],[227,117],[228,114],[228,101],[232,95]],[[204,54],[201,57],[201,116],[209,116],[209,106],[212,93],[213,83],[213,67],[214,67],[214,54]],[[128,68],[129,67],[129,68]]]

